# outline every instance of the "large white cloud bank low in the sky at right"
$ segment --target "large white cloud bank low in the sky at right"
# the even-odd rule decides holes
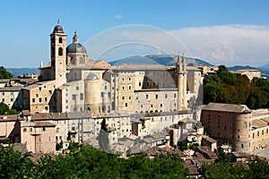
[[[254,25],[222,25],[173,30],[192,54],[212,64],[269,63],[269,29]]]

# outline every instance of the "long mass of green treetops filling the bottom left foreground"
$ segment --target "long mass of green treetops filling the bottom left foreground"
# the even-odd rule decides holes
[[[58,155],[43,155],[38,163],[30,153],[22,154],[0,147],[1,178],[186,178],[187,170],[176,155],[153,160],[144,154],[131,158],[82,145],[81,149]]]

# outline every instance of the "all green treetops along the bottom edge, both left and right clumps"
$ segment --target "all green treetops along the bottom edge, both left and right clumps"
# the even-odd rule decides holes
[[[269,178],[269,166],[256,159],[249,169],[230,162],[220,152],[210,166],[200,172],[204,178]],[[144,154],[132,158],[118,158],[114,154],[83,145],[65,156],[51,158],[43,155],[32,162],[30,153],[22,154],[0,146],[0,178],[186,178],[187,169],[177,155],[159,156],[153,160]]]

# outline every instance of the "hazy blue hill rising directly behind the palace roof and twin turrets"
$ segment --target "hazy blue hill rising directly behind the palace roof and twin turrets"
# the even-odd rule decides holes
[[[122,58],[119,60],[115,60],[109,62],[109,64],[116,65],[116,64],[163,64],[167,66],[174,66],[177,62],[178,55],[134,55],[129,56],[126,58]],[[187,64],[195,64],[195,65],[208,65],[212,66],[213,64],[209,64],[204,62],[203,60],[192,58],[192,57],[185,57]]]

